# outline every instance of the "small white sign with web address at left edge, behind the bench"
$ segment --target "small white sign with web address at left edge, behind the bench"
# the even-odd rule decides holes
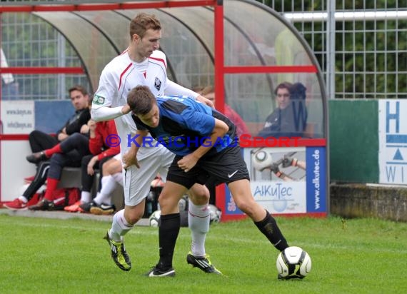
[[[35,128],[34,101],[1,101],[4,134],[27,134]]]

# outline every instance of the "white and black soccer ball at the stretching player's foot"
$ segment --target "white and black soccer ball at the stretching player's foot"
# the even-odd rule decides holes
[[[281,251],[277,258],[278,278],[305,278],[311,271],[311,258],[302,248],[291,246]]]

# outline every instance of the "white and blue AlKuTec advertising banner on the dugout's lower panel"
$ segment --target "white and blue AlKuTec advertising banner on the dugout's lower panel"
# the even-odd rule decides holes
[[[326,213],[325,147],[243,148],[251,193],[272,214]],[[225,214],[243,214],[226,187]]]

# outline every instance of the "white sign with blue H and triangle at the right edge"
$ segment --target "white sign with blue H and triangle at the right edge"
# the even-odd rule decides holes
[[[407,183],[407,101],[378,102],[379,183]]]

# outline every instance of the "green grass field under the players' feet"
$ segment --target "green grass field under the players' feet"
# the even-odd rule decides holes
[[[0,212],[1,213],[1,212]],[[158,260],[158,229],[126,235],[124,272],[103,240],[110,223],[0,214],[0,293],[406,293],[407,223],[329,217],[276,218],[290,245],[311,255],[303,280],[277,280],[278,252],[249,220],[211,226],[206,250],[224,276],[186,264],[181,228],[175,278],[146,278]]]

